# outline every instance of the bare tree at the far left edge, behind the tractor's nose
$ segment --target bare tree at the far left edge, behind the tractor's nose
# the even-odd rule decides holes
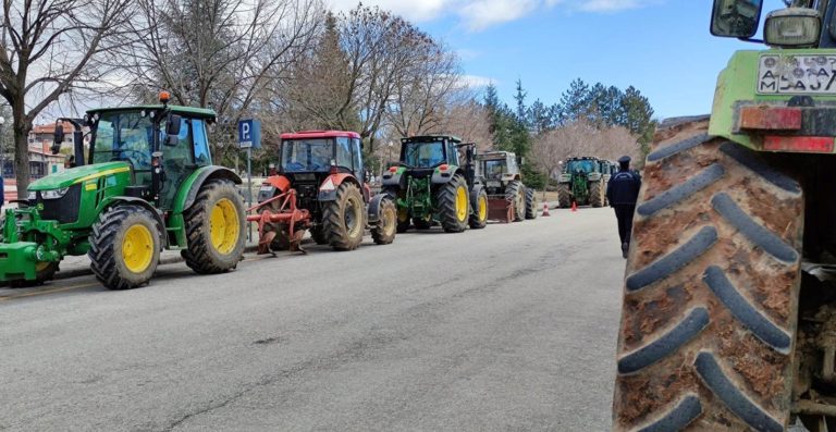
[[[29,184],[33,121],[71,91],[104,81],[97,60],[113,48],[131,0],[3,0],[0,96],[12,108],[17,194]]]

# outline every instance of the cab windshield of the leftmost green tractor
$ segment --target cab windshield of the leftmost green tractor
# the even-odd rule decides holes
[[[93,163],[130,162],[134,170],[151,169],[153,124],[139,112],[102,113],[93,144]]]

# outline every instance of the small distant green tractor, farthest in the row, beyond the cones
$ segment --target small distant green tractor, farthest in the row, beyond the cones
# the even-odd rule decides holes
[[[557,202],[561,208],[578,206],[604,207],[606,182],[610,172],[603,170],[598,158],[570,158],[563,165],[557,184]]]

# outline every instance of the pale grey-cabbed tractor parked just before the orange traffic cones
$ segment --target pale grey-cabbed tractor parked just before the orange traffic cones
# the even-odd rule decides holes
[[[540,202],[534,189],[522,184],[522,174],[514,153],[489,151],[478,155],[476,159],[488,192],[489,219],[519,222],[537,218]]]

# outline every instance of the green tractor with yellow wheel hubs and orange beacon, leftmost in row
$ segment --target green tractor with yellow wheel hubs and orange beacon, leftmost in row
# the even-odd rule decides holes
[[[78,166],[33,182],[27,199],[5,211],[0,281],[40,284],[65,256],[84,254],[110,289],[146,284],[162,249],[181,250],[200,274],[237,266],[245,208],[236,188],[241,178],[212,165],[206,126],[216,113],[168,106],[165,94],[160,99],[162,104],[62,119],[74,125]],[[63,139],[59,124],[53,152]]]

